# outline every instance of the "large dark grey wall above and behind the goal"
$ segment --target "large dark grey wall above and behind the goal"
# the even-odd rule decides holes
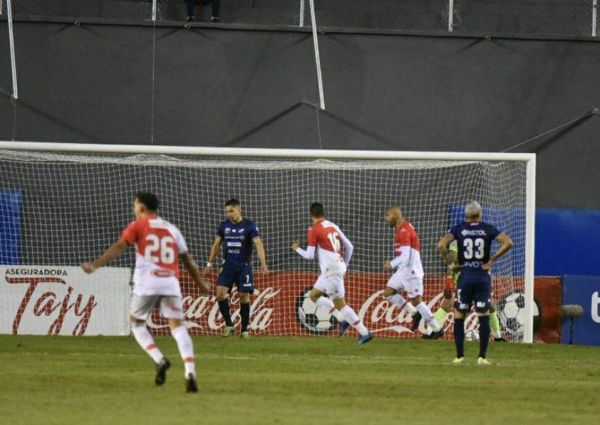
[[[308,32],[155,31],[17,22],[16,104],[0,41],[0,139],[497,152],[600,104],[593,41],[325,33],[317,116]],[[598,208],[599,132],[592,115],[523,147],[538,206]]]

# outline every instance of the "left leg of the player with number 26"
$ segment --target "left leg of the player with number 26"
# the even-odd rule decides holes
[[[158,300],[158,296],[139,296],[134,294],[131,298],[129,320],[131,322],[131,333],[133,334],[133,337],[156,364],[156,385],[162,385],[166,379],[167,369],[169,369],[171,364],[160,352],[158,346],[154,342],[154,338],[146,327],[146,320],[148,320],[148,316]]]

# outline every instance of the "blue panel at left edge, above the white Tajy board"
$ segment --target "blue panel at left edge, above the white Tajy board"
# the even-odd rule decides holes
[[[21,191],[0,189],[0,264],[20,264]]]

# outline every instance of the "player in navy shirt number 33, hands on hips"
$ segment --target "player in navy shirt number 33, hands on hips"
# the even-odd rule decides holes
[[[465,316],[475,304],[479,318],[479,358],[480,365],[490,364],[487,360],[487,348],[490,339],[490,303],[492,282],[490,270],[494,261],[512,247],[510,237],[491,224],[481,220],[482,208],[479,202],[472,201],[465,206],[465,221],[453,226],[439,243],[438,250],[447,265],[454,263],[456,257],[448,251],[448,245],[458,243],[458,277],[454,313],[454,343],[456,358],[454,363],[464,360]],[[500,244],[492,255],[492,242]]]

